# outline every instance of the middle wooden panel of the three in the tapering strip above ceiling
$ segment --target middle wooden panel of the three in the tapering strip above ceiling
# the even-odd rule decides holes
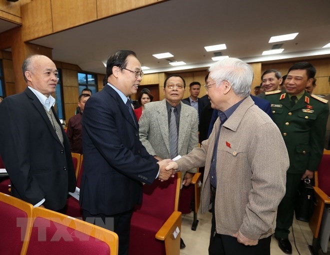
[[[96,20],[95,0],[51,0],[53,31]]]

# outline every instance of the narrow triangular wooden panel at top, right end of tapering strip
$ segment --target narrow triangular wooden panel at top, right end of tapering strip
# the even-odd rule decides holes
[[[97,0],[97,18],[103,18],[165,0]]]

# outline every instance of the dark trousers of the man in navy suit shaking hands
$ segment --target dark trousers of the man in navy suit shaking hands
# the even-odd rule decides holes
[[[83,220],[104,227],[115,232],[119,238],[118,255],[128,254],[129,230],[132,210],[114,215],[90,214],[87,210],[82,211]]]

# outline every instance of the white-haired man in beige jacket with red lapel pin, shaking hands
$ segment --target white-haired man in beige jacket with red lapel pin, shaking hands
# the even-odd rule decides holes
[[[227,58],[209,70],[205,88],[219,117],[200,148],[169,162],[166,169],[205,165],[201,212],[212,204],[209,254],[269,255],[289,166],[285,143],[276,124],[249,96],[250,65]]]

